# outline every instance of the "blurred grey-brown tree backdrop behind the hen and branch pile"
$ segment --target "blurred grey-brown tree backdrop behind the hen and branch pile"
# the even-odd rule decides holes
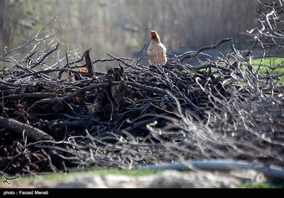
[[[233,37],[238,49],[248,47],[246,35],[256,27],[258,1],[59,1],[1,0],[0,49],[30,40],[58,16],[65,30],[60,42],[93,59],[135,57],[156,30],[168,52],[182,53]],[[62,25],[58,23],[58,25]],[[56,28],[56,27],[54,27]],[[101,69],[104,70],[104,69]]]

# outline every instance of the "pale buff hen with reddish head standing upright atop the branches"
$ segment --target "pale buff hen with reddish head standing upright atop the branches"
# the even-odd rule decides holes
[[[150,65],[163,66],[167,62],[166,52],[167,49],[162,42],[158,33],[151,30],[151,42],[147,49],[147,56]]]

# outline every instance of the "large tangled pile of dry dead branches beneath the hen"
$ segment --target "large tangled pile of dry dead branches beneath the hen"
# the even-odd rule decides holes
[[[145,48],[137,59],[109,54],[92,61],[89,50],[60,54],[55,35],[40,31],[0,57],[6,66],[0,70],[1,172],[202,158],[284,165],[283,75],[252,64],[253,50],[265,59],[268,49],[283,48],[263,47],[259,33],[243,52],[223,39],[157,67],[140,64]],[[216,60],[204,53],[225,43],[232,50]],[[23,48],[29,53],[20,56]],[[94,71],[98,62],[112,69]]]

